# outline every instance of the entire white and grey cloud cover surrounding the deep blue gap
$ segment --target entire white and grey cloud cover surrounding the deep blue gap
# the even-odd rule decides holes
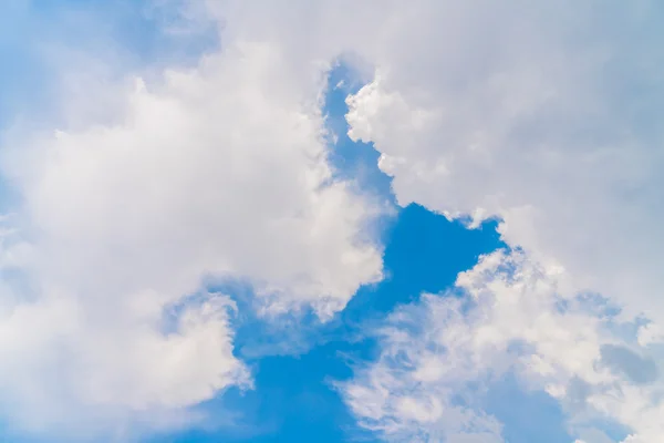
[[[345,391],[353,411],[386,437],[499,441],[464,390],[516,372],[580,441],[588,411],[631,443],[664,432],[658,2],[173,3],[221,24],[221,49],[157,80],[95,79],[64,106],[74,124],[4,140],[21,205],[3,220],[0,328],[21,340],[0,348],[0,392],[19,425],[116,423],[247,385],[208,276],[249,280],[266,315],[323,319],[381,278],[364,236],[380,208],[326,161],[320,94],[343,58],[370,79],[350,135],[382,153],[398,203],[498,217],[522,248],[459,277],[468,306],[427,296],[396,313]]]

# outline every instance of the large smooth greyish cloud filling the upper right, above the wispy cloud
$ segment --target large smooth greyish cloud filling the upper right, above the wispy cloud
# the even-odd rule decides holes
[[[664,321],[657,2],[418,1],[375,34],[349,99],[402,204],[505,220],[504,238]]]

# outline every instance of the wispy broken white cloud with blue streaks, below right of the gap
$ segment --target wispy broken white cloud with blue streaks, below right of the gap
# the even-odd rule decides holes
[[[583,441],[611,441],[593,429],[606,420],[631,430],[625,442],[657,441],[661,352],[603,300],[560,297],[559,276],[521,251],[483,257],[445,297],[392,315],[378,360],[341,385],[349,405],[390,441],[502,442],[484,399],[516,374],[559,400]]]

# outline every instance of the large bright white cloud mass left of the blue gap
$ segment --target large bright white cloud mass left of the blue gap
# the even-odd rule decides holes
[[[249,385],[208,277],[250,281],[266,315],[322,319],[381,278],[363,234],[380,208],[326,161],[324,71],[225,41],[193,69],[77,96],[70,127],[6,136],[21,204],[4,220],[0,393],[17,427],[173,425]]]

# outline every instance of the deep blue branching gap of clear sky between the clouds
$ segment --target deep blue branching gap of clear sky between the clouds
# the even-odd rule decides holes
[[[334,135],[330,163],[338,178],[352,179],[359,192],[394,204],[391,179],[377,167],[378,153],[371,144],[347,137],[345,97],[361,86],[353,78],[344,65],[330,74],[323,110]],[[230,295],[238,306],[236,356],[249,365],[255,387],[247,391],[231,388],[199,405],[211,422],[219,419],[222,424],[217,429],[155,441],[375,441],[356,424],[333,383],[349,380],[355,363],[377,356],[370,331],[396,306],[416,301],[422,292],[444,291],[479,255],[504,246],[495,222],[467,229],[417,205],[398,209],[378,225],[385,246],[384,280],[362,287],[326,323],[312,311],[277,320],[260,318],[248,282],[225,281],[211,288]]]

